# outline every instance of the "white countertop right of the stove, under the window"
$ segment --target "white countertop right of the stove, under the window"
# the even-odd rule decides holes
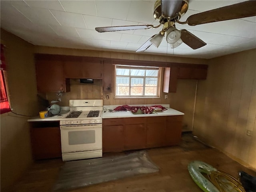
[[[154,104],[151,105],[129,105],[129,106],[153,106]],[[114,109],[117,106],[120,105],[116,105],[116,106],[103,106],[103,108],[106,112],[102,113],[102,118],[106,119],[106,118],[126,118],[126,117],[149,117],[149,116],[172,116],[172,115],[184,115],[184,113],[177,111],[175,109],[170,108],[170,105],[168,104],[156,104],[156,105],[162,105],[163,107],[165,107],[167,110],[162,111],[162,112],[156,112],[156,114],[132,114],[132,112],[130,111],[126,111],[126,112],[109,112],[109,109]]]

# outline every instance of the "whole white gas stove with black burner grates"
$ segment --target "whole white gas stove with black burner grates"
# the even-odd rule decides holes
[[[70,100],[60,120],[62,160],[102,157],[103,100]]]

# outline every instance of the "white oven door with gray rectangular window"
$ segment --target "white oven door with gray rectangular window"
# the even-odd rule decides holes
[[[62,153],[102,149],[102,124],[60,126]]]

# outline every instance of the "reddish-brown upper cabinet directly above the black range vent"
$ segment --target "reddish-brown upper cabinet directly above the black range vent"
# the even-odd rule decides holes
[[[103,64],[100,58],[65,56],[65,78],[102,79]]]

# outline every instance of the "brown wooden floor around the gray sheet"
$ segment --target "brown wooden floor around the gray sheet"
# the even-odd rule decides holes
[[[238,164],[225,154],[198,142],[192,134],[183,134],[182,143],[179,146],[154,148],[147,152],[151,160],[160,168],[159,172],[86,186],[70,192],[202,192],[188,173],[187,166],[192,160],[204,161],[235,178],[238,178],[240,170],[256,176],[255,172]],[[104,154],[104,156],[111,155],[113,154]],[[35,162],[8,191],[52,191],[63,164],[61,159]]]

